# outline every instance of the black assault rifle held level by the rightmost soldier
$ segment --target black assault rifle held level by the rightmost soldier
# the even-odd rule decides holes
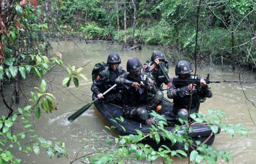
[[[199,75],[190,75],[186,79],[181,79],[181,78],[173,78],[173,84],[180,84],[180,85],[189,85],[189,84],[196,84],[197,87],[200,86],[200,80],[201,77]],[[207,75],[205,79],[203,79],[206,84],[210,83],[221,83],[220,81],[211,81],[210,80],[210,74]]]

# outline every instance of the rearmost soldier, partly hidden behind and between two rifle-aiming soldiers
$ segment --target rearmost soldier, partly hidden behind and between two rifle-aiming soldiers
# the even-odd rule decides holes
[[[166,76],[168,77],[168,68],[164,62],[165,58],[160,50],[156,50],[152,53],[151,62],[144,64],[143,72],[150,73],[154,78],[157,89],[162,89],[161,85],[164,83],[168,85],[169,81],[164,77],[163,72],[159,68],[159,64],[162,66]],[[169,79],[169,77],[168,77]]]

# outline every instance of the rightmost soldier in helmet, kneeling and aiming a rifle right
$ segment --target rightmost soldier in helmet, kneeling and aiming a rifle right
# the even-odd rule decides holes
[[[192,72],[192,67],[186,60],[181,60],[176,64],[174,78],[186,79]],[[207,86],[203,78],[200,81],[200,87],[196,84],[193,85],[181,85],[173,84],[168,87],[167,96],[173,99],[173,115],[183,120],[188,119],[188,109],[191,102],[191,90],[192,90],[192,104],[190,108],[190,114],[198,113],[201,102],[204,102],[206,97],[211,98],[213,96],[211,89]]]

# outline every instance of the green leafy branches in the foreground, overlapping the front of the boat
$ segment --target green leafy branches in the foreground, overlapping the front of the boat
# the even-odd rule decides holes
[[[156,112],[151,113],[152,116],[156,118],[157,124],[150,127],[151,132],[146,135],[141,131],[137,130],[138,135],[125,135],[125,136],[109,136],[106,133],[106,136],[102,138],[97,136],[96,133],[91,132],[91,135],[95,138],[94,141],[96,144],[92,144],[88,139],[84,140],[84,146],[81,148],[79,153],[85,151],[85,154],[78,156],[74,160],[69,159],[72,163],[81,162],[81,163],[112,163],[112,164],[123,164],[128,161],[142,160],[145,162],[152,163],[156,159],[160,158],[163,163],[172,164],[173,157],[178,157],[182,160],[182,157],[190,157],[190,162],[195,162],[196,164],[216,164],[218,157],[223,159],[225,162],[233,160],[231,153],[225,152],[213,148],[213,146],[206,145],[200,141],[193,141],[189,137],[193,129],[187,129],[186,126],[176,125],[175,129],[171,132],[164,129],[164,126],[167,125],[167,122],[163,116],[158,115]],[[197,115],[197,116],[196,116]],[[215,126],[221,125],[221,127],[227,127],[225,124],[221,123],[221,118],[224,117],[225,113],[221,110],[212,110],[209,109],[209,116],[203,116],[200,114],[193,114],[192,117],[195,118],[196,123],[207,122],[209,126],[213,129],[213,133],[218,133],[215,131]],[[124,121],[123,117],[116,118],[112,120],[117,123],[117,121]],[[183,122],[184,123],[184,122]],[[118,124],[118,123],[117,123]],[[207,124],[205,124],[207,125]],[[224,125],[224,126],[223,126]],[[120,125],[118,125],[120,126]],[[108,130],[114,130],[116,127],[111,126],[107,127]],[[124,127],[122,127],[124,128]],[[225,130],[232,136],[234,135],[232,130],[241,135],[247,135],[245,128],[242,125],[235,125],[235,127],[228,126]],[[237,130],[239,129],[239,130]],[[180,135],[178,132],[183,131],[184,135]],[[159,144],[161,140],[164,140],[165,143],[171,142],[171,145],[179,144],[183,145],[183,150],[171,150],[166,145],[159,145],[158,149],[153,149],[150,145],[145,144],[145,138],[152,138],[156,144]],[[91,138],[91,137],[90,137]],[[107,143],[107,146],[104,145],[104,142]],[[92,148],[93,152],[86,153],[89,149]]]

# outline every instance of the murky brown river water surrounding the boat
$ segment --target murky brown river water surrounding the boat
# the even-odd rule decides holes
[[[63,68],[57,68],[52,73],[45,76],[51,82],[49,91],[56,97],[57,111],[53,114],[43,114],[40,120],[35,120],[35,130],[38,135],[41,135],[47,140],[65,142],[66,149],[69,152],[71,159],[75,158],[75,154],[83,146],[83,138],[91,139],[90,132],[94,131],[99,136],[105,135],[103,130],[104,126],[108,125],[104,118],[97,112],[94,106],[91,106],[82,116],[79,116],[73,123],[67,121],[67,117],[74,113],[76,110],[84,106],[91,101],[92,92],[90,87],[92,84],[91,70],[95,63],[105,61],[110,52],[117,52],[121,59],[121,67],[126,68],[126,62],[128,58],[137,57],[140,61],[145,62],[150,57],[151,49],[143,48],[142,51],[121,51],[121,47],[118,45],[111,46],[107,44],[85,44],[80,41],[73,42],[55,42],[53,43],[53,53],[60,52],[64,56],[64,65],[75,66],[76,68],[84,67],[81,73],[88,77],[88,81],[84,81],[79,78],[79,87],[75,87],[74,83],[68,88],[69,91],[62,87],[62,80],[67,77],[67,73],[63,72]],[[82,52],[83,51],[83,52]],[[169,76],[174,76],[175,66],[171,66],[169,70]],[[238,80],[238,73],[232,73],[228,70],[231,68],[218,68],[206,67],[198,69],[197,72],[203,77],[206,77],[207,73],[211,73],[212,80]],[[255,74],[251,72],[243,72],[245,80],[255,80]],[[245,95],[240,84],[211,84],[213,91],[213,97],[206,100],[201,105],[200,113],[207,113],[209,108],[222,109],[227,113],[227,117],[223,118],[225,123],[243,123],[245,127],[249,128],[248,137],[235,134],[235,137],[221,132],[217,135],[213,147],[222,149],[224,151],[231,152],[234,157],[234,161],[230,161],[230,164],[255,164],[256,163],[256,125],[253,124],[252,119],[256,122],[256,107],[245,99],[245,95],[249,100],[256,103],[256,85],[243,85]],[[26,86],[25,86],[26,87]],[[166,87],[166,86],[165,86]],[[25,91],[31,90],[26,87]],[[166,95],[166,93],[165,93]],[[23,99],[21,99],[22,104]],[[2,102],[1,102],[2,104]],[[251,117],[252,119],[251,119]],[[114,132],[108,133],[108,135],[117,135]],[[82,153],[83,154],[83,153]],[[68,160],[63,158],[50,159],[46,152],[42,150],[39,155],[35,154],[22,154],[22,161],[27,164],[63,164],[68,163]],[[156,162],[160,163],[160,161]],[[183,162],[175,160],[176,164],[188,163],[187,159]],[[224,164],[224,161],[218,160],[218,163]]]

